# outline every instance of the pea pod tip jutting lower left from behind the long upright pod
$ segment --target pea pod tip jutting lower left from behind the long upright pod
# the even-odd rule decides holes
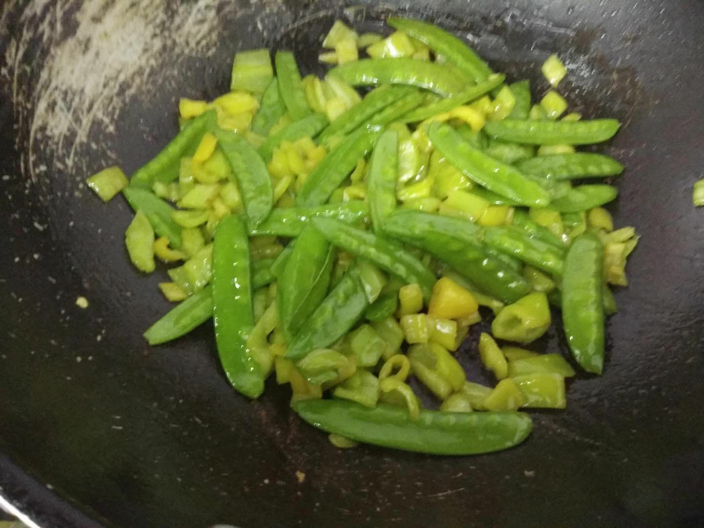
[[[199,327],[213,317],[213,287],[208,284],[182,303],[178,303],[144,332],[150,345],[173,341]]]

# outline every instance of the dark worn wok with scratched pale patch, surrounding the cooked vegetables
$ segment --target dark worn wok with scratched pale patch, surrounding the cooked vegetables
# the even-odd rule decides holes
[[[163,274],[134,271],[127,204],[82,183],[151,158],[177,130],[177,98],[225,92],[238,49],[296,49],[320,72],[335,18],[379,30],[389,13],[455,30],[534,92],[557,52],[572,108],[624,122],[603,149],[627,165],[612,212],[643,238],[605,373],[580,375],[567,410],[533,413],[532,436],[503,453],[341,451],[272,380],[259,401],[236,394],[209,324],[149,348]],[[691,0],[6,1],[1,493],[47,528],[704,525],[702,27]],[[460,357],[481,379],[477,336]],[[565,352],[560,327],[540,346]]]

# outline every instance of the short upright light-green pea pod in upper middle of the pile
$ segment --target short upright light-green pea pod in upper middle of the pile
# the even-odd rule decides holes
[[[396,180],[398,179],[398,133],[388,130],[379,137],[367,174],[372,226],[382,232],[384,218],[396,209]]]

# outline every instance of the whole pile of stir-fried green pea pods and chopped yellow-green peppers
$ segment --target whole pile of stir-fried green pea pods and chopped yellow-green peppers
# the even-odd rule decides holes
[[[565,408],[570,363],[515,346],[546,333],[550,305],[577,365],[603,368],[610,286],[627,285],[638,237],[602,207],[615,187],[583,183],[622,165],[576,146],[620,123],[565,115],[557,56],[533,103],[528,80],[508,83],[445,30],[387,22],[389,37],[336,22],[325,79],[301,78],[290,51],[273,65],[269,50],[239,52],[231,92],[182,99],[156,158],[129,182],[113,167],[89,185],[135,210],[125,242],[139,270],[175,264],[160,287],[180,304],[150,344],[213,318],[234,388],[257,398],[275,372],[337,446],[498,451],[531,430],[518,409]],[[477,352],[493,387],[455,357],[491,313]]]

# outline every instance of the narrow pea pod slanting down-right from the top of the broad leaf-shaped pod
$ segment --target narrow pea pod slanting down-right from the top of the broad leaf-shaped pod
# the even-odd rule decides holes
[[[315,218],[313,225],[334,246],[370,260],[406,284],[419,284],[423,298],[426,302],[429,300],[436,282],[435,274],[398,244],[330,218]]]

